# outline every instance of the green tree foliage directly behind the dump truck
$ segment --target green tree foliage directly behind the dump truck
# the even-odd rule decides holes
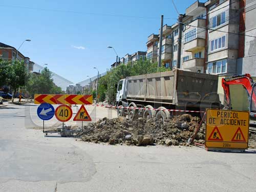
[[[168,69],[164,67],[158,68],[157,63],[152,63],[149,60],[139,60],[135,63],[130,62],[127,63],[127,65],[120,65],[113,68],[99,79],[99,101],[103,101],[107,98],[109,103],[113,103],[116,98],[117,84],[120,79],[134,75],[163,72],[166,70]]]

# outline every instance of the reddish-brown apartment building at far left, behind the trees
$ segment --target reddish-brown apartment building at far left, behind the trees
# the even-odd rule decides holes
[[[0,42],[0,55],[6,60],[19,60],[24,61],[26,68],[32,72],[34,67],[34,62],[30,61],[29,57],[24,56],[22,53],[17,51],[14,47],[3,44]]]

